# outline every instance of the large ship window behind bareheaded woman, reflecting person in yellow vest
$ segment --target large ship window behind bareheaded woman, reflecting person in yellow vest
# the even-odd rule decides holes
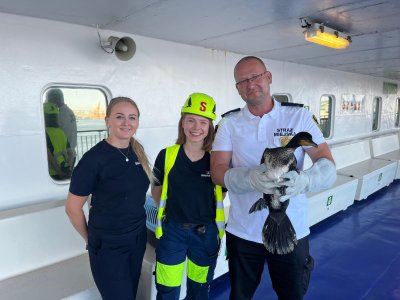
[[[101,87],[51,86],[43,92],[49,175],[69,179],[82,155],[107,137],[107,91]]]

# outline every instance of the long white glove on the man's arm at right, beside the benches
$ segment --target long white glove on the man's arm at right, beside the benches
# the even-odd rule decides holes
[[[299,173],[290,171],[281,178],[283,181],[280,185],[286,186],[286,189],[279,201],[284,202],[299,194],[319,192],[331,187],[336,181],[336,167],[329,159],[320,158],[311,168]]]

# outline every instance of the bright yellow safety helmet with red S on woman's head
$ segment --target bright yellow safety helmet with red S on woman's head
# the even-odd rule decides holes
[[[203,93],[193,93],[187,98],[181,112],[215,120],[216,108],[217,106],[212,97]]]

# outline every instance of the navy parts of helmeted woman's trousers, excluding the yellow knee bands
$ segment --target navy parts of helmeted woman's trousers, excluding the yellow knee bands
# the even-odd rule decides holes
[[[205,225],[205,232],[201,233],[193,226],[183,226],[170,220],[163,222],[163,235],[158,240],[156,260],[166,265],[178,265],[186,257],[198,266],[209,266],[207,282],[200,284],[187,278],[186,298],[203,300],[208,299],[210,284],[214,277],[217,264],[220,240],[215,223]],[[157,277],[157,270],[156,270]],[[157,299],[178,300],[180,286],[170,287],[157,284]]]

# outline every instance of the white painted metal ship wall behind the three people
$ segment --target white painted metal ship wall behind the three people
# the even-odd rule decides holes
[[[217,113],[243,106],[233,68],[243,56],[140,36],[127,62],[99,47],[96,28],[1,14],[0,184],[7,187],[0,209],[65,197],[67,185],[47,174],[42,92],[51,83],[100,85],[112,96],[132,97],[141,110],[139,139],[152,160],[176,138],[180,108],[195,91],[217,102]],[[124,33],[100,31],[102,38]],[[318,116],[319,99],[332,94],[365,94],[366,113],[340,116],[336,105],[335,139],[368,134],[372,98],[382,96],[381,78],[266,60],[273,74],[272,93],[290,93],[293,102]],[[394,100],[383,98],[382,129],[394,126]],[[44,188],[45,187],[45,188]],[[27,193],[29,191],[29,193]],[[29,194],[29,195],[28,195]]]

